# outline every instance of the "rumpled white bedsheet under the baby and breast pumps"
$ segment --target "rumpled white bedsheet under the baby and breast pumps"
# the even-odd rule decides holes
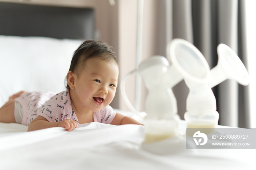
[[[256,169],[254,149],[185,149],[184,136],[146,145],[143,137],[144,127],[132,124],[26,132],[26,126],[0,123],[0,169]]]

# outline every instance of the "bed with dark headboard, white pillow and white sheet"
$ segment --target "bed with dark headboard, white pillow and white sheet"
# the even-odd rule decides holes
[[[89,8],[0,2],[0,22],[0,106],[20,90],[63,91],[72,53],[82,39],[94,38]],[[0,123],[0,169],[256,168],[255,149],[186,149],[185,131],[181,120],[178,137],[146,144],[141,125],[92,122],[71,132],[57,127],[27,132],[21,124]]]

